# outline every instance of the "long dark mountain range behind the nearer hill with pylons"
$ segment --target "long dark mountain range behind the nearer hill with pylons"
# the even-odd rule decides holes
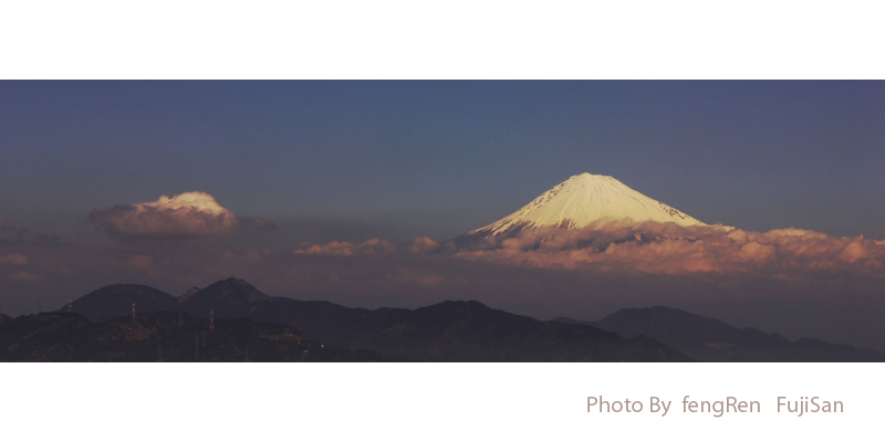
[[[137,313],[186,312],[208,318],[211,311],[217,319],[282,324],[332,345],[420,360],[687,360],[685,355],[705,361],[885,360],[873,350],[809,338],[792,343],[778,334],[663,306],[625,308],[598,322],[540,322],[475,301],[413,311],[271,297],[235,277],[194,287],[177,298],[144,285],[111,285],[75,299],[73,312],[103,322],[131,316],[133,302]]]

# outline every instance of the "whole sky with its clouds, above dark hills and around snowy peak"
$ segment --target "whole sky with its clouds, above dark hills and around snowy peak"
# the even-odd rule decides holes
[[[237,276],[369,308],[668,305],[885,349],[883,122],[883,82],[0,82],[0,309]],[[582,172],[739,230],[440,252]],[[192,191],[237,220],[133,206]],[[823,233],[769,232],[790,227]]]

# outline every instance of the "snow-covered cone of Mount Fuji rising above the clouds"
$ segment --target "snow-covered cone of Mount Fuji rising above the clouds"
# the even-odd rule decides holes
[[[548,190],[510,215],[460,236],[458,240],[461,241],[458,242],[472,242],[470,240],[542,227],[580,229],[597,221],[707,225],[612,177],[581,173]]]

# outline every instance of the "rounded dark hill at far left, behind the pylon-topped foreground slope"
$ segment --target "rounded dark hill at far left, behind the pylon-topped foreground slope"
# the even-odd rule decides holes
[[[101,323],[118,316],[132,316],[135,312],[176,312],[179,303],[175,296],[147,285],[115,284],[96,290],[73,301],[72,313]],[[67,305],[56,312],[67,312]]]

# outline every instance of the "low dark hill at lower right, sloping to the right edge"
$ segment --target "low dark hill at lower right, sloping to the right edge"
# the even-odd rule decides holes
[[[631,338],[645,335],[698,359],[708,361],[885,361],[885,355],[846,345],[800,339],[795,343],[778,335],[748,327],[738,328],[721,320],[678,308],[624,308],[602,320],[581,322],[555,318],[553,322],[585,324]]]

